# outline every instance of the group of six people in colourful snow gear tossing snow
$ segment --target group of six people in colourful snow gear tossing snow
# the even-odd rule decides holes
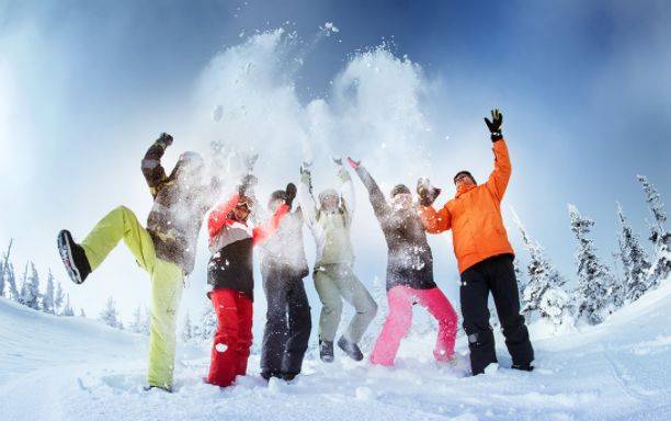
[[[360,161],[346,159],[368,192],[388,249],[389,312],[369,356],[373,364],[394,365],[416,304],[425,307],[437,320],[435,360],[454,361],[457,315],[434,282],[433,255],[427,241],[427,232],[452,230],[473,374],[481,374],[497,362],[489,323],[490,292],[512,356],[512,368],[533,369],[534,351],[520,315],[513,249],[500,209],[511,163],[501,134],[502,115],[498,110],[491,115],[485,122],[493,143],[493,172],[486,183],[477,184],[468,171],[459,171],[454,177],[455,197],[440,209],[433,203],[441,190],[428,180],[418,181],[417,201],[403,184],[396,185],[387,197]],[[68,230],[58,234],[59,253],[77,284],[83,283],[122,239],[151,276],[148,387],[172,390],[177,312],[184,280],[194,269],[197,237],[206,216],[212,253],[207,265],[208,297],[217,317],[217,330],[205,382],[226,387],[238,375],[247,373],[252,344],[253,249],[257,246],[268,300],[261,376],[292,380],[300,373],[311,331],[310,306],[304,286],[304,278],[309,274],[304,224],[309,227],[317,250],[312,277],[321,301],[320,359],[332,362],[337,343],[351,359],[363,360],[360,342],[376,316],[377,304],[354,273],[351,241],[354,185],[343,162],[334,159],[340,189],[325,190],[317,197],[312,194],[310,168],[304,164],[298,186],[288,183],[284,190],[273,192],[268,202],[272,216],[260,221],[254,217],[260,205],[253,194],[257,180],[251,173],[240,181],[235,194],[215,203],[225,194],[223,183],[216,178],[207,185],[202,183],[205,164],[200,155],[182,153],[172,172],[167,174],[161,157],[172,141],[172,136],[162,134],[141,161],[143,174],[153,197],[146,228],[130,209],[120,206],[104,216],[79,243]],[[355,314],[336,342],[343,299]]]

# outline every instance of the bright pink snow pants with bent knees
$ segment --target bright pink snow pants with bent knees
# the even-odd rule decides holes
[[[454,357],[454,341],[457,330],[457,315],[450,300],[439,288],[414,289],[409,286],[395,286],[387,292],[389,314],[382,333],[375,342],[371,362],[394,365],[400,341],[412,323],[412,305],[420,304],[439,321],[437,339],[433,355],[439,362]]]

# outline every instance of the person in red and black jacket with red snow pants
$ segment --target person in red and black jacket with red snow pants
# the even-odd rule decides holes
[[[251,227],[248,218],[254,201],[246,195],[248,185],[243,182],[238,194],[216,206],[207,220],[212,252],[208,296],[217,315],[207,383],[221,387],[247,374],[252,343],[253,247],[273,235],[293,201],[288,197],[266,224]]]

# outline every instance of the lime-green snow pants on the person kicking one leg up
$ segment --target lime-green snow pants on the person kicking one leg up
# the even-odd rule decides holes
[[[138,264],[151,275],[151,327],[149,332],[149,386],[172,388],[175,322],[182,297],[184,272],[158,259],[153,240],[133,210],[120,206],[103,217],[82,241],[91,270],[95,270],[124,240]]]

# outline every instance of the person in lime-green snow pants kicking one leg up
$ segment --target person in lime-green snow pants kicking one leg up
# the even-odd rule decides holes
[[[148,387],[172,391],[175,322],[184,278],[193,271],[196,240],[205,213],[217,197],[218,181],[201,184],[203,159],[185,152],[166,174],[161,157],[172,144],[162,134],[143,159],[143,174],[153,206],[143,227],[129,208],[120,206],[105,215],[76,243],[70,231],[58,235],[58,249],[72,281],[81,284],[123,239],[137,263],[151,276]]]

